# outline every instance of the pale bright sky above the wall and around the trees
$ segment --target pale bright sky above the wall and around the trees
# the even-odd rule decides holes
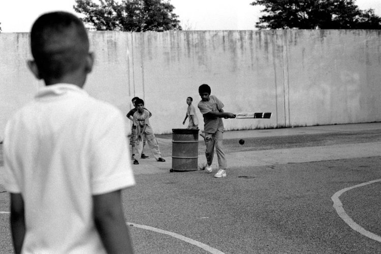
[[[184,30],[255,30],[261,6],[253,0],[171,0]],[[29,32],[34,20],[49,11],[74,12],[74,0],[4,1],[0,6],[2,31]],[[360,9],[372,8],[381,16],[380,0],[357,0]]]

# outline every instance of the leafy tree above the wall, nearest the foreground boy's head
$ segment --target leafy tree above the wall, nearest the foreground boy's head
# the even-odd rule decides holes
[[[75,0],[77,13],[84,14],[83,21],[95,30],[116,31],[167,31],[181,30],[178,16],[169,1],[164,0]]]

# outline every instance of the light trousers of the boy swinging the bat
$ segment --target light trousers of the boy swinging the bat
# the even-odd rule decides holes
[[[218,167],[221,170],[225,170],[228,165],[226,162],[226,156],[223,147],[224,132],[218,131],[216,133],[205,132],[205,155],[208,165],[213,162],[214,148],[216,149]]]

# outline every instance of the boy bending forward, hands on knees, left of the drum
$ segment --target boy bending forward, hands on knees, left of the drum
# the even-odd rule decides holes
[[[165,161],[165,159],[162,158],[155,134],[153,134],[152,126],[149,123],[149,112],[144,108],[144,101],[142,99],[137,99],[135,105],[138,109],[134,114],[134,124],[137,129],[137,157],[139,158],[139,155],[142,153],[143,140],[146,139],[155,160],[162,162]],[[139,161],[136,158],[134,160],[134,164],[139,164]]]

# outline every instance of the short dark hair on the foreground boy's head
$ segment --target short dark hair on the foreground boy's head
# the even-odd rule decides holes
[[[60,78],[78,70],[89,52],[83,22],[68,12],[40,16],[31,28],[30,46],[42,78]]]

